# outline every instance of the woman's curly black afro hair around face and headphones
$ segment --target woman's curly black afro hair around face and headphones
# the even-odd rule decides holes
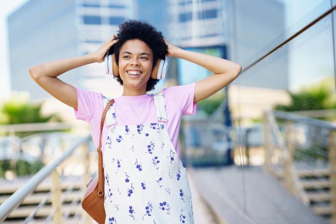
[[[115,62],[119,64],[119,52],[122,45],[131,39],[139,39],[145,42],[148,47],[153,51],[153,67],[159,58],[164,59],[167,54],[168,46],[163,40],[162,32],[156,31],[155,27],[145,21],[140,20],[127,20],[119,25],[117,31],[119,41],[116,42],[114,47]],[[116,80],[123,85],[120,76],[114,76]],[[149,77],[146,86],[146,92],[154,90],[154,86],[159,82],[157,79]]]

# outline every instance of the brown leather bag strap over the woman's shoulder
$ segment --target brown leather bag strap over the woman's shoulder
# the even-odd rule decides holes
[[[102,115],[101,119],[101,134],[99,138],[99,146],[97,148],[98,152],[98,195],[103,195],[103,153],[102,153],[102,133],[103,133],[103,127],[105,122],[106,113],[108,112],[111,105],[114,103],[114,100],[112,99],[109,104],[105,107],[105,110]]]

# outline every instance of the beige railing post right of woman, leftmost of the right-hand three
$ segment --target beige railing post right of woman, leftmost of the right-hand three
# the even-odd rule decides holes
[[[267,173],[273,174],[272,169],[272,152],[271,152],[271,139],[270,139],[270,127],[268,122],[268,114],[264,112],[263,117],[263,145],[265,150],[265,163],[264,168]]]

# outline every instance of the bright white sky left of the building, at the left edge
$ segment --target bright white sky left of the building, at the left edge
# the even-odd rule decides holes
[[[27,0],[1,1],[0,7],[0,99],[9,97],[9,61],[7,40],[7,16]]]

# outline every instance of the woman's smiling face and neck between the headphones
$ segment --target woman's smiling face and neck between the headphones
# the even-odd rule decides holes
[[[119,74],[123,81],[123,96],[146,94],[146,86],[152,73],[153,52],[139,40],[127,40],[119,51]]]

